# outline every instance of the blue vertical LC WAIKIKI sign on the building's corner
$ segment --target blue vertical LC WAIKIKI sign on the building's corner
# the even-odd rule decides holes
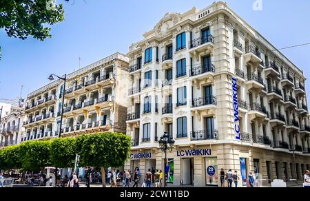
[[[237,87],[237,79],[234,77],[231,78],[231,86],[233,91],[234,130],[236,134],[236,139],[240,140],[238,87]]]

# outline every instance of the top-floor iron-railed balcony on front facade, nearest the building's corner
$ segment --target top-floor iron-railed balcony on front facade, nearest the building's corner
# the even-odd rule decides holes
[[[214,36],[208,34],[207,36],[199,37],[189,42],[189,53],[192,53],[196,56],[200,52],[213,52],[214,48]]]

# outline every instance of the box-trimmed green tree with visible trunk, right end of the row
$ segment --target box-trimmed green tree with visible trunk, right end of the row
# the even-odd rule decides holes
[[[105,168],[124,165],[130,153],[129,136],[118,133],[99,133],[81,136],[81,162],[90,167],[101,167],[103,187],[105,184]]]

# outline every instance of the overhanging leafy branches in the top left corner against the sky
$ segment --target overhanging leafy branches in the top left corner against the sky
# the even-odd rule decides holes
[[[10,37],[43,41],[51,37],[50,25],[65,19],[64,13],[62,4],[52,0],[1,0],[0,29]]]

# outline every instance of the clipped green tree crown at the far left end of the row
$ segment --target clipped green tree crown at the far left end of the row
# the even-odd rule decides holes
[[[0,150],[0,169],[20,169],[19,146],[9,146]]]

